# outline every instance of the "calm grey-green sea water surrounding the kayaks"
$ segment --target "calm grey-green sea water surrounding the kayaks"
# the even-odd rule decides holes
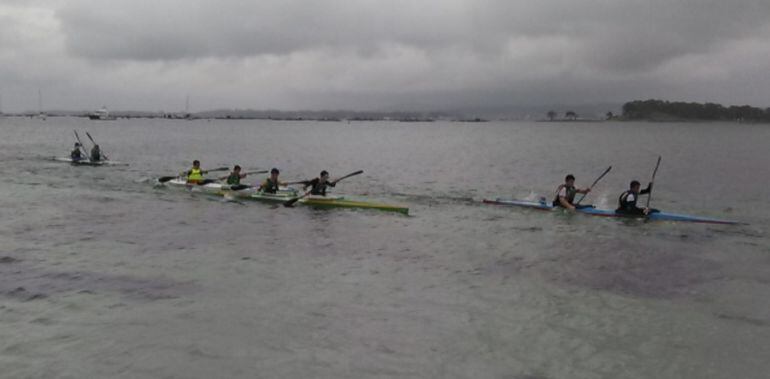
[[[128,167],[71,167],[72,130]],[[0,119],[0,377],[766,378],[770,127]],[[614,207],[748,226],[485,206],[567,173]],[[156,188],[205,167],[411,216]],[[252,180],[255,180],[252,178]]]

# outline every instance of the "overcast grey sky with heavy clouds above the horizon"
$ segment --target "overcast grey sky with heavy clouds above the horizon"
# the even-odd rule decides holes
[[[768,0],[0,0],[5,112],[770,106]]]

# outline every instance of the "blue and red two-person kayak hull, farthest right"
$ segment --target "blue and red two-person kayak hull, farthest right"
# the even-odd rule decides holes
[[[537,209],[542,211],[552,211],[560,208],[560,207],[554,207],[553,205],[544,201],[510,200],[510,199],[498,198],[495,200],[484,199],[483,202],[485,204],[523,207],[523,208]],[[724,225],[744,224],[739,221],[720,220],[716,218],[690,216],[690,215],[667,213],[667,212],[655,212],[655,213],[650,213],[647,216],[630,215],[625,213],[618,213],[618,212],[615,212],[614,210],[609,210],[609,209],[596,209],[592,205],[578,208],[575,211],[578,213],[587,214],[591,216],[640,219],[640,220],[644,219],[649,221],[695,222],[695,223],[703,223],[703,224],[724,224]]]

